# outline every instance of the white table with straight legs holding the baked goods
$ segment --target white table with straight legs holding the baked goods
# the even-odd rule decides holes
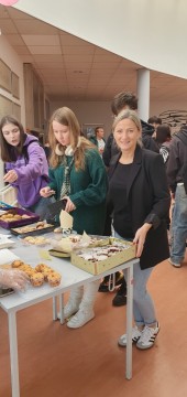
[[[15,255],[24,261],[36,265],[41,262],[38,248],[35,246],[18,247],[11,249]],[[43,260],[45,261],[45,260]],[[68,259],[59,259],[52,257],[48,265],[62,275],[62,283],[58,287],[52,288],[47,283],[40,288],[29,288],[26,292],[15,292],[11,296],[0,299],[0,307],[8,313],[9,321],[9,344],[10,344],[10,366],[11,366],[11,386],[12,397],[20,397],[20,383],[19,383],[19,356],[18,356],[18,337],[16,337],[16,312],[29,308],[33,304],[42,302],[46,299],[53,298],[53,319],[56,320],[56,299],[62,297],[66,291],[74,287],[86,285],[98,280],[114,271],[127,269],[128,272],[128,303],[127,303],[127,334],[128,344],[125,350],[125,377],[132,377],[132,296],[133,296],[133,265],[139,260],[129,260],[125,264],[117,266],[114,269],[105,271],[101,275],[92,276],[73,266]],[[46,261],[45,261],[46,262]],[[62,311],[62,300],[61,311]]]

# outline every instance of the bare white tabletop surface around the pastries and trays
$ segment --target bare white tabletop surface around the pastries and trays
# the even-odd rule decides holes
[[[52,234],[46,234],[45,236],[48,237],[52,236]],[[40,262],[48,265],[62,275],[62,281],[61,286],[55,288],[45,282],[42,287],[30,286],[25,292],[14,292],[10,296],[0,298],[0,305],[6,312],[24,309],[45,299],[64,293],[72,287],[87,283],[96,279],[100,279],[105,275],[111,273],[110,269],[105,271],[102,275],[94,276],[72,265],[70,259],[57,258],[53,256],[51,256],[51,260],[42,259],[40,256],[40,250],[47,250],[48,248],[52,248],[51,246],[25,246],[18,237],[13,236],[13,239],[15,240],[15,247],[10,248],[13,254],[33,267]],[[133,262],[134,261],[135,259]],[[121,270],[122,268],[124,268],[124,264],[116,267],[114,271]]]

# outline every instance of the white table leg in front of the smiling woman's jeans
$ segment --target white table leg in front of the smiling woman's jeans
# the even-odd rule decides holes
[[[133,265],[127,269],[128,304],[127,304],[127,379],[132,378],[132,301],[133,301]]]

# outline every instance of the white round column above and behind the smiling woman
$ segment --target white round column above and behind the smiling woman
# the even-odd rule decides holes
[[[139,117],[147,121],[150,117],[150,71],[145,68],[138,69],[138,98]]]

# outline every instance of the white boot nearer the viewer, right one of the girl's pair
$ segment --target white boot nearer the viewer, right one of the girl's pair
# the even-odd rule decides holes
[[[77,329],[85,325],[95,318],[94,303],[98,292],[100,280],[89,282],[85,286],[84,297],[79,305],[78,312],[67,322],[67,326]]]

